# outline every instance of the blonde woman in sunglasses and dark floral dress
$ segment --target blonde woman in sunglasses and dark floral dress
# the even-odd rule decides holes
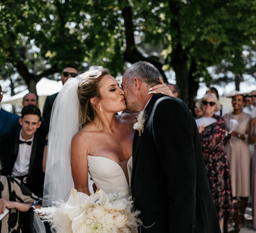
[[[203,110],[202,117],[213,117],[217,120],[207,127],[199,126],[198,131],[210,189],[223,231],[224,219],[231,218],[233,214],[229,162],[223,144],[226,126],[224,119],[215,115],[220,110],[220,104],[214,94],[206,94],[199,104]]]

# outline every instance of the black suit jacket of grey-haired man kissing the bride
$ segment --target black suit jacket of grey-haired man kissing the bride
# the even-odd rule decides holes
[[[195,120],[178,98],[154,95],[133,141],[131,177],[141,232],[219,233]]]

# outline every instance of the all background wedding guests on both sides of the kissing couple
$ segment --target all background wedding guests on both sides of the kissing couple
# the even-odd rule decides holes
[[[77,75],[75,67],[65,67],[61,74],[63,85]],[[179,98],[179,87],[167,86],[174,97]],[[24,219],[28,219],[31,206],[40,207],[38,202],[43,196],[50,116],[57,95],[46,98],[42,115],[36,93],[23,97],[21,116],[0,107],[0,214],[5,207],[9,209],[1,220],[1,232],[12,229],[32,232],[31,223]],[[2,97],[0,86],[0,102]],[[248,197],[252,196],[253,226],[256,229],[256,91],[248,95],[233,92],[229,97],[232,111],[219,104],[217,89],[210,87],[202,99],[194,102],[191,112],[196,120],[203,117],[214,119],[209,125],[198,125],[198,131],[221,228],[224,219],[232,218],[233,203],[237,199],[242,201],[239,220],[241,226],[244,224]],[[47,224],[46,232],[50,232]]]

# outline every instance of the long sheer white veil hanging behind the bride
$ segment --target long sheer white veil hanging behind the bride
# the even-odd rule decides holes
[[[67,200],[70,189],[74,187],[70,166],[70,145],[72,137],[79,131],[77,89],[82,75],[68,79],[53,104],[43,206],[52,205],[52,201]]]

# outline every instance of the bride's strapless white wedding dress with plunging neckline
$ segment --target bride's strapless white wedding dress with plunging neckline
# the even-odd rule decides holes
[[[131,176],[132,176],[132,157],[127,161],[127,170],[112,159],[103,156],[87,155],[88,171],[96,184],[97,189],[102,189],[105,193],[114,192],[119,189],[125,192],[128,198],[131,193]],[[128,172],[128,176],[127,176]]]

